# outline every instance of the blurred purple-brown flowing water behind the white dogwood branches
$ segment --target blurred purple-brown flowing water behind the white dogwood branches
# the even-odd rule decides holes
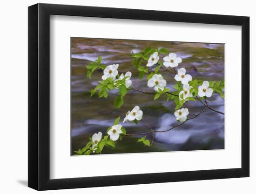
[[[86,65],[102,56],[105,65],[119,64],[119,73],[132,72],[132,85],[144,91],[153,92],[153,88],[147,87],[146,76],[142,80],[138,78],[138,71],[131,65],[131,52],[140,52],[145,47],[165,47],[171,53],[182,58],[180,67],[184,67],[188,74],[199,80],[222,80],[224,78],[224,45],[209,43],[147,41],[147,40],[113,40],[72,38],[71,41],[71,92],[72,92],[72,154],[85,146],[89,137],[101,131],[106,133],[108,127],[113,125],[115,118],[121,115],[123,120],[126,112],[136,105],[143,111],[143,119],[155,130],[165,130],[177,124],[174,116],[175,104],[166,101],[165,97],[153,100],[153,94],[141,94],[133,92],[125,96],[124,105],[114,108],[114,100],[118,90],[109,93],[108,98],[98,98],[97,94],[90,96],[98,81],[101,80],[102,70],[96,70],[92,79],[86,77]],[[160,60],[166,56],[160,54]],[[147,62],[143,61],[143,65]],[[177,68],[177,67],[176,67]],[[160,73],[167,80],[167,87],[174,91],[173,85],[177,83],[174,75],[164,68]],[[130,92],[129,92],[130,93]],[[217,94],[209,98],[209,105],[224,112],[224,100]],[[189,117],[197,114],[204,108],[200,102],[185,104],[189,109]],[[123,123],[127,133],[147,132],[149,129],[139,122],[138,125]],[[141,136],[130,136],[118,141],[115,149],[104,148],[103,154],[111,153],[140,153],[162,151],[186,151],[224,149],[224,116],[211,110],[207,110],[197,118],[189,120],[184,125],[176,127],[166,133],[156,133],[152,147],[145,147],[137,143]],[[151,139],[151,136],[148,135]]]

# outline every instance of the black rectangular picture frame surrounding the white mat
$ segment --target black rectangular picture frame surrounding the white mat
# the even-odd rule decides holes
[[[50,175],[50,15],[242,26],[242,167],[53,179]],[[228,80],[226,80],[228,81]],[[234,107],[235,111],[236,107]],[[249,176],[249,17],[107,7],[28,7],[28,187],[36,190],[195,181]]]

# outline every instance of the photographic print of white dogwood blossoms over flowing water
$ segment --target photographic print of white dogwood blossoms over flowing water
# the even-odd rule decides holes
[[[224,149],[224,46],[71,37],[71,155]]]

